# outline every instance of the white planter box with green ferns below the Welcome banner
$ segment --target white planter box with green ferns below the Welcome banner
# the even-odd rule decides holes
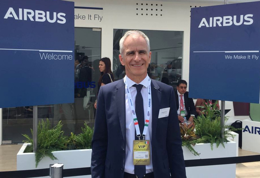
[[[26,140],[17,154],[17,170],[48,168],[50,163],[57,163],[54,160],[64,163],[64,169],[90,167],[86,159],[91,159],[93,129],[84,123],[81,130],[78,135],[64,136],[61,121],[51,128],[48,119],[42,120],[38,123],[36,153],[33,153],[32,137],[24,134]],[[33,136],[32,129],[31,133]]]

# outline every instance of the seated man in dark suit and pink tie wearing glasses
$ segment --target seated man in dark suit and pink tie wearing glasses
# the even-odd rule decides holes
[[[179,80],[177,83],[177,90],[175,92],[175,99],[176,99],[176,108],[178,113],[178,119],[180,122],[184,121],[184,116],[181,116],[180,111],[181,109],[181,96],[183,99],[184,104],[184,111],[185,111],[185,117],[187,120],[193,122],[193,119],[195,117],[196,108],[194,106],[193,98],[189,98],[189,92],[186,92],[187,90],[187,82],[185,80]]]

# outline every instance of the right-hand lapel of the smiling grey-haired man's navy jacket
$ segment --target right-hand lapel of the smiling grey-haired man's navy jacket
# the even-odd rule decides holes
[[[158,84],[151,80],[151,92],[152,92],[152,138],[155,138],[156,128],[158,122],[158,114],[160,110],[160,103],[162,99],[162,93],[159,90]],[[153,139],[152,139],[153,140]]]

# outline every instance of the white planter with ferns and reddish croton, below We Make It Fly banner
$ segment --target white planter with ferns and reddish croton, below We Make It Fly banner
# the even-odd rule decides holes
[[[192,132],[193,129],[189,129],[191,126],[185,128],[188,131],[186,135],[190,133],[188,138],[195,138],[195,134],[197,139],[189,141],[188,138],[185,138],[186,136],[182,136],[182,139],[186,139],[183,144],[185,146],[183,147],[184,159],[194,160],[236,156],[236,147],[238,145],[236,142],[228,140],[228,136],[234,137],[231,131],[226,130],[224,138],[221,137],[220,111],[216,109],[216,103],[205,103],[205,106],[202,107],[204,108],[202,112],[205,116],[202,114],[194,119],[194,133]],[[180,127],[183,130],[183,127],[186,127],[186,125],[183,124]],[[225,125],[224,127],[227,128],[229,126]],[[181,133],[183,132],[181,131]],[[220,144],[222,147],[219,147]],[[236,164],[186,167],[187,177],[235,177],[235,174]]]

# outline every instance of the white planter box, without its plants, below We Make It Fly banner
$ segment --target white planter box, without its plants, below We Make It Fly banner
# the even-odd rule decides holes
[[[194,149],[200,153],[199,156],[194,156],[186,147],[183,147],[184,160],[235,157],[237,143],[229,141],[224,143],[225,148],[221,144],[216,148],[216,144],[214,144],[213,150],[211,150],[210,143],[196,144]],[[236,164],[186,167],[186,175],[187,178],[236,178]]]

